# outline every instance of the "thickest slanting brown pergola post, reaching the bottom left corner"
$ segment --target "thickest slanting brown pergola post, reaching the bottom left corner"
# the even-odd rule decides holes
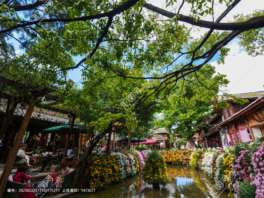
[[[7,159],[4,171],[1,175],[1,178],[0,178],[0,198],[2,197],[2,195],[4,193],[4,189],[6,187],[8,177],[12,172],[13,165],[14,165],[15,160],[16,160],[17,152],[19,150],[20,144],[22,143],[23,137],[24,137],[26,129],[28,127],[28,123],[30,121],[31,114],[34,110],[37,98],[38,97],[36,97],[34,95],[31,97],[31,100],[30,100],[30,103],[28,105],[28,109],[26,111],[25,117],[21,123],[18,134],[16,136],[16,140],[15,140],[14,145],[13,145],[13,148],[11,150],[9,158]]]

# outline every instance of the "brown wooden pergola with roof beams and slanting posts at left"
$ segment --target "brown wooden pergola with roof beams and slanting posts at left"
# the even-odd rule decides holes
[[[30,86],[26,86],[26,85],[19,83],[18,81],[20,81],[25,76],[26,75],[23,75],[22,77],[20,77],[16,80],[10,80],[10,79],[4,78],[4,77],[0,77],[0,81],[3,83],[2,89],[7,87],[7,86],[10,86],[10,87],[13,87],[13,88],[18,90],[18,91],[13,92],[13,93],[2,93],[2,97],[13,98],[14,101],[12,102],[10,110],[9,110],[9,114],[5,118],[4,123],[0,129],[0,138],[2,138],[4,136],[6,129],[9,126],[9,122],[11,121],[11,118],[12,118],[13,113],[14,113],[14,109],[16,108],[17,104],[19,104],[22,100],[24,100],[24,101],[30,100],[28,108],[26,110],[26,114],[25,114],[23,121],[21,123],[21,126],[18,130],[16,139],[15,139],[13,147],[11,149],[11,153],[9,155],[9,158],[6,161],[4,171],[3,171],[1,178],[0,178],[0,198],[2,197],[2,195],[4,193],[4,189],[5,189],[8,177],[11,174],[11,171],[13,169],[13,165],[15,163],[16,155],[18,153],[20,144],[22,143],[23,136],[26,132],[26,128],[28,126],[28,123],[31,119],[31,114],[34,110],[34,107],[38,106],[38,107],[43,108],[43,109],[52,110],[52,111],[60,112],[63,114],[69,114],[68,110],[53,106],[56,104],[63,104],[64,103],[63,99],[60,99],[59,97],[50,94],[50,93],[54,92],[54,88],[50,89],[50,88],[47,88],[45,86],[40,87],[41,84],[39,84],[39,83],[34,84],[34,85],[30,85]],[[22,95],[22,96],[19,95],[19,93],[23,92],[23,90],[29,90],[29,89],[30,89],[30,93],[31,93],[30,95],[26,95],[26,96],[25,95]],[[42,101],[41,100],[38,101],[38,97],[44,97],[44,96],[45,96],[47,101],[50,100],[53,102],[50,102],[48,104],[41,104]],[[10,105],[10,104],[8,104],[8,105]],[[75,121],[75,114],[70,113],[70,116],[72,117],[72,121],[70,124],[69,133],[67,134],[67,138],[66,138],[64,156],[67,155],[67,150],[68,150],[68,147],[70,145],[70,138],[72,136],[72,129],[73,129],[74,121]],[[88,136],[87,136],[87,139],[88,139]],[[89,149],[89,147],[88,147],[88,149]],[[85,149],[85,151],[87,150],[87,153],[88,153],[88,149]],[[86,158],[87,158],[87,156],[86,156]],[[84,165],[84,163],[83,163],[83,165]],[[84,168],[84,166],[82,167],[82,170],[83,170],[83,168]]]

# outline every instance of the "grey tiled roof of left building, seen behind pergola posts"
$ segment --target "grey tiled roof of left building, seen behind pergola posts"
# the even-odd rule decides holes
[[[0,112],[5,112],[6,111],[6,104],[0,103]],[[56,122],[56,123],[68,123],[69,119],[63,118],[62,116],[54,116],[50,115],[49,113],[40,113],[40,117],[37,115],[39,114],[38,111],[33,111],[31,118],[33,119],[38,119],[38,120],[43,120],[43,121],[50,121],[50,122]],[[20,109],[19,105],[16,107],[16,110],[14,112],[14,115],[18,116],[25,116],[26,114],[26,109]]]

